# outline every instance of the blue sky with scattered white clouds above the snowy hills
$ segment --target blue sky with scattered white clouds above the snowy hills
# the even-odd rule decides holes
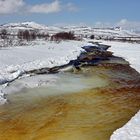
[[[0,24],[138,25],[139,13],[140,0],[0,0]]]

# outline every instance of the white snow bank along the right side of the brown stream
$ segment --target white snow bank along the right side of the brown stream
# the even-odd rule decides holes
[[[140,72],[140,44],[103,41],[111,45],[115,55],[128,60],[131,66]],[[140,111],[122,128],[116,130],[110,140],[140,140]]]

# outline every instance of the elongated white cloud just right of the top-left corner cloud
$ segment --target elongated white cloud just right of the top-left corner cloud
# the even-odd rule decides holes
[[[61,11],[61,5],[58,0],[52,3],[43,3],[38,5],[33,5],[30,7],[29,12],[31,13],[56,13]]]

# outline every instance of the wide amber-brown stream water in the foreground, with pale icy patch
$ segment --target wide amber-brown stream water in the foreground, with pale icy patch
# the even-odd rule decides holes
[[[56,86],[8,96],[0,140],[109,140],[140,108],[140,76],[129,66],[60,77]]]

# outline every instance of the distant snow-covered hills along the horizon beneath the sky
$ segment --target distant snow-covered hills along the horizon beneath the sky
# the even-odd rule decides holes
[[[72,31],[76,35],[84,36],[100,36],[100,37],[137,37],[134,32],[121,30],[121,28],[93,28],[88,26],[45,26],[35,22],[23,22],[23,23],[9,23],[0,26],[0,29],[7,29],[9,33],[18,32],[18,30],[38,30],[39,32],[55,34],[58,32]]]

